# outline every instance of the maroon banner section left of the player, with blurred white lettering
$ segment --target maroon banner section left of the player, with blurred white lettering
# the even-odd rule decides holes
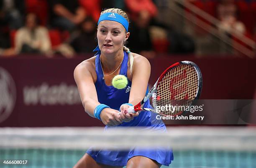
[[[103,126],[81,103],[79,59],[0,59],[0,126]]]

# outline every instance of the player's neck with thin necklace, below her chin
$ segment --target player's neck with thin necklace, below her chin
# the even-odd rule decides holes
[[[100,61],[104,72],[111,72],[116,69],[123,61],[123,50],[116,52],[115,54],[100,54]]]

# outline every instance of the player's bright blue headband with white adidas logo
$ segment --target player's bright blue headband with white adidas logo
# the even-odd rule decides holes
[[[117,14],[117,13],[104,13],[102,15],[100,15],[99,21],[98,21],[98,25],[101,21],[103,20],[110,20],[110,21],[115,21],[120,23],[121,25],[123,25],[123,27],[125,28],[125,30],[128,32],[128,27],[129,27],[129,23],[128,21],[121,15]],[[100,54],[100,47],[99,45],[97,45],[97,47],[93,50],[93,52],[97,51],[97,54]]]

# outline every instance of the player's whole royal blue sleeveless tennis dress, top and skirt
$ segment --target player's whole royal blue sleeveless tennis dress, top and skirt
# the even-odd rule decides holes
[[[124,52],[123,62],[121,64],[120,74],[127,77],[127,63],[128,53]],[[97,73],[97,81],[95,87],[97,91],[98,101],[101,104],[110,106],[111,109],[119,110],[120,106],[124,103],[128,103],[129,94],[131,90],[131,81],[128,80],[128,85],[125,89],[115,89],[113,86],[107,86],[102,79],[103,72],[100,65],[100,54],[96,56],[95,67]],[[147,89],[148,92],[148,89]],[[144,107],[150,108],[149,100],[145,102]],[[166,131],[166,127],[161,120],[156,119],[156,114],[148,111],[141,112],[133,120],[126,123],[123,122],[118,126],[144,126],[149,129],[158,131]],[[108,126],[105,126],[105,130],[108,130]],[[110,127],[113,128],[113,127]],[[173,153],[171,149],[159,148],[159,149],[138,149],[132,148],[129,151],[110,151],[100,150],[95,151],[93,148],[87,150],[87,152],[97,163],[109,165],[109,166],[126,166],[127,162],[133,156],[145,156],[158,163],[169,166],[173,160]]]

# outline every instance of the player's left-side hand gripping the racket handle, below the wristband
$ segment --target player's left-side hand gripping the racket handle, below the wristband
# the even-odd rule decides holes
[[[117,110],[105,108],[100,113],[100,119],[106,126],[118,126],[123,122],[118,113]]]

